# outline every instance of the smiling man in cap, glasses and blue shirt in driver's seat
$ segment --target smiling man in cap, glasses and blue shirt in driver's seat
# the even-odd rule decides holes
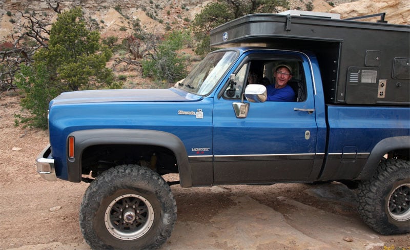
[[[268,101],[294,101],[295,92],[288,85],[292,79],[292,69],[287,65],[279,65],[274,72],[275,84],[267,86]]]

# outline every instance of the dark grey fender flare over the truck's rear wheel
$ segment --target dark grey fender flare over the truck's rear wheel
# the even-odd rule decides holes
[[[410,136],[388,137],[379,141],[367,158],[360,174],[356,180],[370,180],[376,173],[377,166],[383,156],[393,150],[410,149]]]

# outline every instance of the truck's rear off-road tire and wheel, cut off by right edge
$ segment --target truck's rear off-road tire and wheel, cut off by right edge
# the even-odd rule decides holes
[[[371,180],[358,189],[358,211],[364,222],[383,235],[408,233],[410,228],[410,164],[380,162]],[[400,206],[400,207],[399,207]]]

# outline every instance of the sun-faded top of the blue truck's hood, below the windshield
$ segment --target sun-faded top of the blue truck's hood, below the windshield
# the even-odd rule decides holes
[[[120,101],[197,101],[200,99],[202,99],[202,96],[176,88],[86,90],[61,93],[51,101],[50,105]]]

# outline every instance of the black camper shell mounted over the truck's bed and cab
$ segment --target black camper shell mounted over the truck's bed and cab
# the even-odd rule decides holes
[[[410,26],[318,16],[251,14],[211,31],[211,47],[311,51],[326,103],[410,104]]]

